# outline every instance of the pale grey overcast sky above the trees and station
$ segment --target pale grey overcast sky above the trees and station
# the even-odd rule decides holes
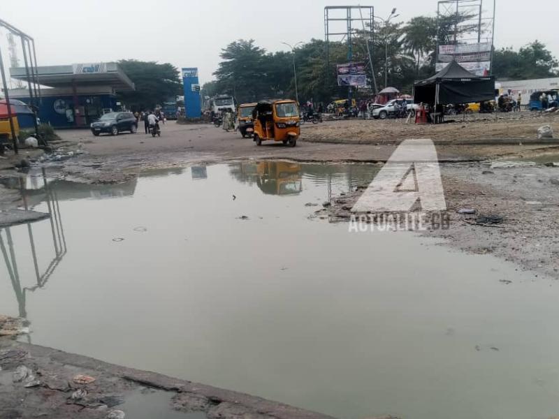
[[[286,50],[282,42],[324,39],[324,6],[358,1],[3,0],[0,18],[35,38],[40,66],[133,58],[198,67],[204,83],[231,41],[252,38],[277,51]],[[361,4],[382,17],[396,7],[404,22],[437,10],[437,0]],[[518,48],[537,38],[559,57],[558,18],[559,0],[497,0],[495,46]],[[5,31],[0,47],[7,61]]]

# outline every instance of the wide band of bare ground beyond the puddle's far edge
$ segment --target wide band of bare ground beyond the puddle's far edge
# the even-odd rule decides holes
[[[522,119],[511,118],[498,119],[496,124],[471,122],[464,129],[471,131],[472,140],[486,138],[484,135],[487,135],[490,129],[488,127],[491,127],[494,138],[510,138],[507,135],[516,138],[520,134],[516,132],[516,128],[511,128],[511,124],[522,125],[523,123],[518,121],[526,119],[529,123],[528,127],[523,128],[522,135],[527,138],[535,138],[537,127],[544,123],[552,124],[559,132],[559,114],[553,117],[539,117],[537,114],[526,112],[525,117],[516,116]],[[272,142],[257,147],[251,139],[241,138],[240,134],[234,132],[226,133],[222,128],[215,128],[211,124],[181,126],[168,122],[162,127],[161,138],[152,138],[143,132],[123,133],[116,137],[94,137],[87,130],[60,131],[59,135],[64,140],[63,147],[80,149],[85,154],[64,164],[55,161],[52,168],[59,169],[66,179],[80,182],[123,182],[135,177],[140,170],[235,159],[382,162],[391,156],[398,142],[407,138],[435,138],[436,141],[442,141],[441,138],[465,138],[461,126],[415,126],[405,125],[400,120],[335,121],[316,126],[307,124],[303,126],[302,138],[295,148]],[[326,142],[317,144],[317,141]],[[437,152],[441,161],[471,161],[549,149],[553,146],[521,145],[516,141],[514,144],[441,144],[437,147]]]

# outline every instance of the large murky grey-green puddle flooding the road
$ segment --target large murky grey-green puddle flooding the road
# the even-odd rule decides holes
[[[34,344],[340,418],[559,415],[555,283],[308,219],[377,170],[235,163],[51,182],[48,200],[30,179],[52,223],[0,233],[0,312]]]

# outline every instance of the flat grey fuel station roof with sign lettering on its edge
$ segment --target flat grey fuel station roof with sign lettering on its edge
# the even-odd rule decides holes
[[[117,91],[135,90],[133,82],[116,63],[70,64],[66,66],[39,66],[38,82],[43,86],[71,87],[110,86]],[[10,76],[27,81],[24,67],[10,68]]]

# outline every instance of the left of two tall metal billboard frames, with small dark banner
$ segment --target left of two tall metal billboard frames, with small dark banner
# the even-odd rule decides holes
[[[326,6],[324,8],[324,41],[326,43],[326,71],[331,71],[330,43],[340,42],[347,44],[347,61],[354,57],[354,37],[363,34],[367,41],[366,49],[372,81],[377,92],[377,80],[372,66],[372,47],[375,36],[374,31],[375,8],[373,6]],[[339,63],[338,63],[339,64]],[[349,87],[351,99],[351,87]]]

